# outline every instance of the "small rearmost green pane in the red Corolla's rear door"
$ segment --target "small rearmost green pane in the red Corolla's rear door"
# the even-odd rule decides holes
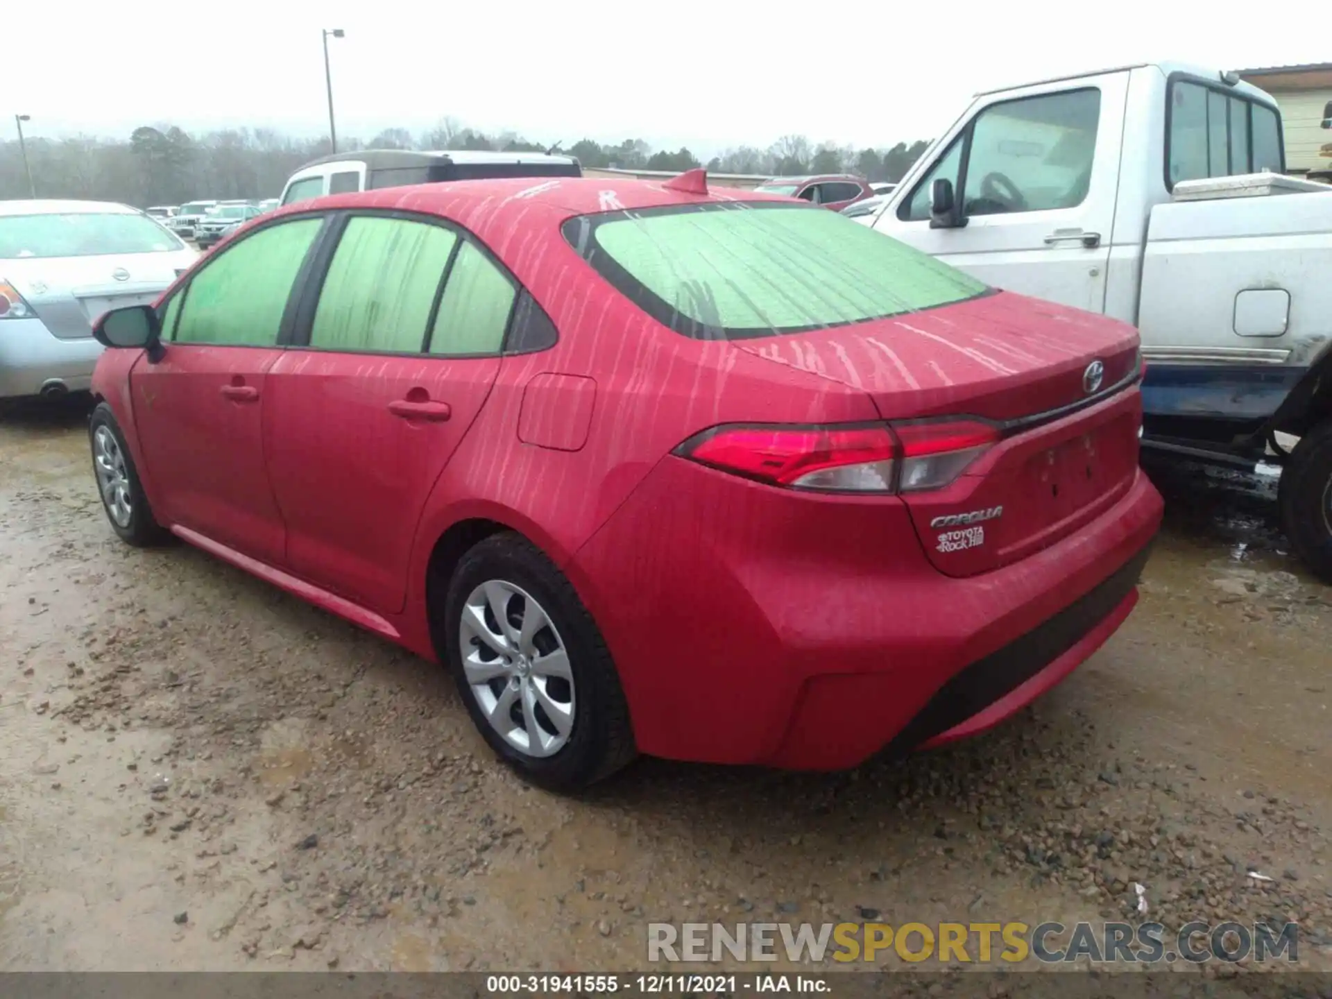
[[[464,242],[444,286],[430,353],[500,353],[515,294],[509,277],[476,245]]]

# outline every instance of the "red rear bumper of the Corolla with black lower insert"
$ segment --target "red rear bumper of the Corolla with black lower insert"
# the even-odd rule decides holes
[[[834,770],[983,731],[1063,679],[1132,609],[1162,506],[1135,472],[1076,534],[950,578],[896,500],[670,458],[569,570],[643,753]]]

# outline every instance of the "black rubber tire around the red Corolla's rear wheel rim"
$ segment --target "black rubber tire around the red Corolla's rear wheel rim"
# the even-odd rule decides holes
[[[464,671],[462,613],[469,595],[489,581],[531,594],[565,646],[573,675],[573,725],[563,746],[551,755],[530,755],[497,731]],[[535,545],[510,531],[477,543],[458,562],[442,613],[448,666],[468,714],[490,747],[525,779],[553,791],[578,791],[634,759],[629,706],[601,631],[569,579]],[[500,683],[502,687],[503,681]]]

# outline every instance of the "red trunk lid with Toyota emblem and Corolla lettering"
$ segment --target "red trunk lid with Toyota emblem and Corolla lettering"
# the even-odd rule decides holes
[[[1138,472],[1138,332],[1103,316],[998,292],[734,345],[862,389],[890,422],[998,425],[999,442],[950,485],[902,494],[947,575],[1048,547],[1116,502]]]

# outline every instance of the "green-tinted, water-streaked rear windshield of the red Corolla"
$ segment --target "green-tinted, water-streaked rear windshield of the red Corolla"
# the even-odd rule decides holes
[[[781,201],[570,218],[565,238],[677,333],[746,340],[932,309],[988,288],[836,212]]]

